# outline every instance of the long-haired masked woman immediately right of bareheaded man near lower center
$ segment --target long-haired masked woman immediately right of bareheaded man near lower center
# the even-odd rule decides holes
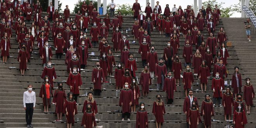
[[[131,84],[129,85],[128,88],[131,89],[131,92],[132,92],[132,103],[131,103],[131,112],[135,112],[135,107],[138,106],[138,99],[140,97],[140,88],[139,86],[137,85],[137,80],[136,78],[132,78],[131,79]]]

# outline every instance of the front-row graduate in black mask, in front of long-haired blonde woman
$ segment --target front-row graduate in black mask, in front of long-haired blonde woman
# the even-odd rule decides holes
[[[92,111],[92,105],[87,104],[86,109],[83,112],[83,119],[81,122],[81,126],[84,128],[93,128],[97,126],[95,121],[95,113]]]

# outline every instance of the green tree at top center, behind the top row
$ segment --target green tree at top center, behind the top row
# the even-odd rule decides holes
[[[132,6],[130,4],[122,4],[122,5],[117,5],[115,9],[115,13],[118,13],[118,11],[122,12],[123,16],[132,16],[133,11],[131,10]]]

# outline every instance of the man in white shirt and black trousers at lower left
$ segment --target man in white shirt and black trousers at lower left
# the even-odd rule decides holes
[[[23,106],[26,111],[27,128],[33,128],[31,122],[35,105],[36,93],[32,91],[32,85],[28,85],[28,91],[23,94]]]

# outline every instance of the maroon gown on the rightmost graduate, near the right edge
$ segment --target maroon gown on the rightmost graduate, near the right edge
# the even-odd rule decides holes
[[[255,97],[253,85],[244,85],[244,100],[247,106],[253,106],[253,98]]]

